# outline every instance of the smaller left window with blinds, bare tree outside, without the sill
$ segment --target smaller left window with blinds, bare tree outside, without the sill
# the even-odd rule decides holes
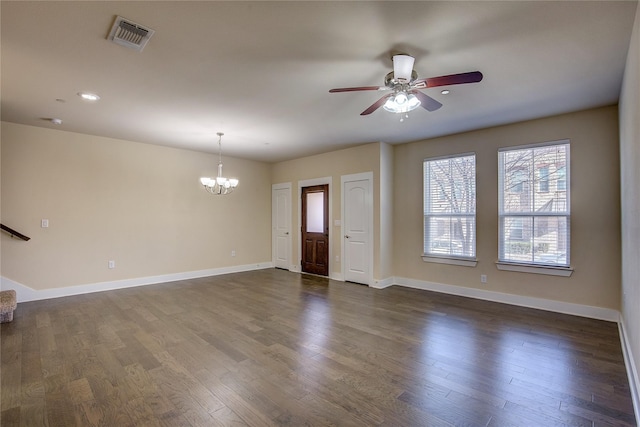
[[[476,155],[426,159],[424,256],[475,259]]]

